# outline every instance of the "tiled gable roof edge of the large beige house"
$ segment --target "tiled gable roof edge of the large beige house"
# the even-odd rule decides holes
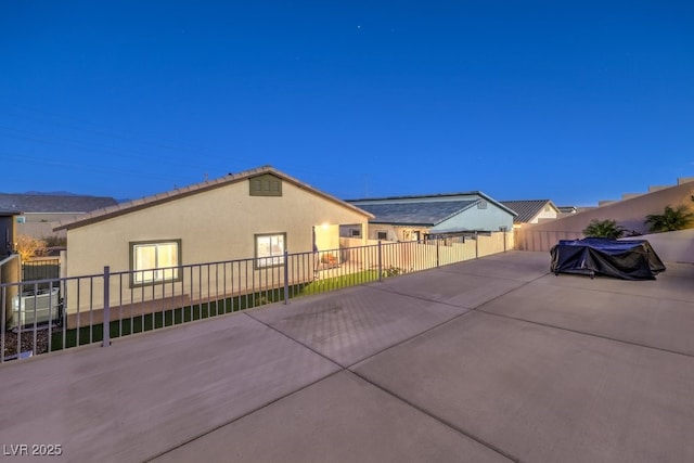
[[[274,167],[272,166],[262,166],[262,167],[257,167],[254,169],[249,169],[249,170],[245,170],[243,172],[237,172],[237,173],[229,173],[224,177],[220,177],[218,179],[213,179],[213,180],[206,180],[204,182],[201,183],[195,183],[192,185],[188,185],[188,187],[182,187],[176,190],[171,190],[165,193],[159,193],[159,194],[155,194],[152,196],[146,196],[143,197],[141,200],[134,200],[134,201],[130,201],[127,203],[120,203],[120,204],[116,204],[115,206],[111,206],[111,207],[105,207],[103,209],[98,209],[94,211],[91,211],[89,214],[86,214],[85,216],[81,216],[79,218],[76,218],[75,220],[70,220],[70,221],[65,221],[65,222],[61,222],[57,227],[55,227],[53,229],[53,231],[57,231],[57,230],[70,230],[70,229],[75,229],[75,228],[79,228],[79,227],[85,227],[87,224],[90,223],[95,223],[102,220],[106,220],[106,219],[111,219],[117,216],[121,216],[121,215],[126,215],[126,214],[130,214],[133,213],[136,210],[141,210],[141,209],[145,209],[149,207],[154,207],[157,206],[159,204],[164,204],[164,203],[168,203],[171,201],[176,201],[185,196],[191,196],[194,194],[198,194],[198,193],[203,193],[209,190],[214,190],[214,189],[218,189],[218,188],[222,188],[232,183],[237,183],[241,181],[245,181],[248,180],[250,178],[257,177],[257,176],[261,176],[265,173],[271,173],[275,177],[279,177],[280,179],[290,182],[292,184],[294,184],[295,187],[301,189],[301,190],[306,190],[312,194],[316,194],[318,196],[321,196],[324,200],[331,201],[333,203],[336,203],[343,207],[347,207],[349,209],[355,210],[358,214],[362,214],[369,218],[372,218],[373,216],[355,206],[351,205],[349,203],[346,203],[342,200],[336,198],[335,196],[332,196],[327,193],[323,193],[320,190],[314,189],[313,187],[304,183],[284,172],[281,172],[279,170],[277,170]]]

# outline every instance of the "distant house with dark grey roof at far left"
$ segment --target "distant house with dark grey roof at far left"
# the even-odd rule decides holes
[[[54,234],[64,237],[64,231],[53,232],[54,222],[73,220],[92,210],[116,204],[116,200],[105,196],[0,193],[0,209],[22,210],[16,218],[17,234],[38,239]]]

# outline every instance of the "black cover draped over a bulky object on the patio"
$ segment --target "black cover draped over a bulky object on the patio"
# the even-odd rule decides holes
[[[552,272],[607,275],[624,280],[655,280],[665,271],[646,240],[586,237],[561,240],[550,250]]]

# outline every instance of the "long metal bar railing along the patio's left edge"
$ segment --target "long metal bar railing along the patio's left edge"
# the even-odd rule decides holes
[[[235,312],[510,248],[506,233],[378,242],[156,270],[0,283],[0,362]]]

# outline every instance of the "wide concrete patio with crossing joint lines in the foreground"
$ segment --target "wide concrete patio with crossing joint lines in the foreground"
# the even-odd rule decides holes
[[[509,252],[0,365],[0,442],[69,462],[691,462],[694,266]]]

